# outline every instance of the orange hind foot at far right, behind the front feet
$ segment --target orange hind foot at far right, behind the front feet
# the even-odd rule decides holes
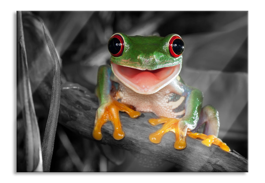
[[[203,139],[203,141],[201,141],[201,143],[205,146],[208,146],[210,147],[211,144],[215,144],[217,146],[219,146],[222,150],[224,151],[230,151],[230,148],[226,145],[226,143],[223,143],[223,141],[220,139],[220,138],[217,138],[216,136],[214,135],[205,135],[203,133],[192,133],[192,132],[189,132],[189,137],[192,137],[192,138],[201,138]]]

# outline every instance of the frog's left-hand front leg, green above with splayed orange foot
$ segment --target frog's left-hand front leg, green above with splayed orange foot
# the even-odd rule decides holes
[[[125,136],[121,127],[119,111],[126,112],[131,118],[136,118],[141,115],[140,112],[130,109],[125,104],[118,102],[111,96],[111,74],[111,67],[107,65],[99,67],[98,84],[96,87],[96,95],[99,99],[99,108],[96,112],[95,126],[93,130],[93,137],[97,140],[102,139],[101,127],[108,121],[111,121],[113,124],[114,139],[120,140]]]

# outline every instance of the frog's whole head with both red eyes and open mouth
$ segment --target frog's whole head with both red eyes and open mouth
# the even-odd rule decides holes
[[[140,94],[152,94],[178,76],[184,42],[177,34],[127,36],[114,34],[108,42],[114,75]]]

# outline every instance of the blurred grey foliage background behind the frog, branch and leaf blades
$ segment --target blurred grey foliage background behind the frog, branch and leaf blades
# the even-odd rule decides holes
[[[180,75],[187,85],[203,91],[203,105],[212,104],[219,111],[219,138],[248,158],[248,12],[32,13],[41,17],[50,31],[66,79],[92,92],[98,67],[109,62],[107,42],[113,33],[179,34],[185,42]],[[35,95],[33,91],[43,139],[48,110]],[[17,111],[19,108],[17,105]],[[24,135],[18,112],[17,172],[26,170]],[[58,123],[50,171],[188,171],[160,160],[150,162],[127,151],[123,154],[125,160],[115,165],[101,153],[97,142]]]

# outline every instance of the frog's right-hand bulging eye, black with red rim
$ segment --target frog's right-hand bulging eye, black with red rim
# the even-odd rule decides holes
[[[179,36],[173,36],[169,41],[169,52],[174,58],[179,57],[184,51],[185,44]]]

